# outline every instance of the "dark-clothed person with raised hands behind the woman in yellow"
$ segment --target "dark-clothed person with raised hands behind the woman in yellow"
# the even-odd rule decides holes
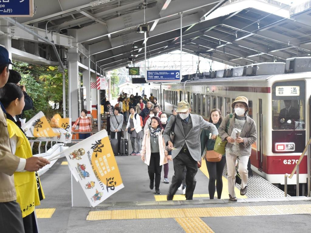
[[[9,75],[9,79],[7,80],[7,82],[15,83],[17,86],[20,86],[21,90],[24,93],[25,107],[22,111],[22,114],[16,115],[16,119],[15,119],[19,126],[21,126],[20,119],[22,119],[24,111],[33,109],[34,107],[34,102],[32,101],[31,97],[27,94],[25,85],[21,85],[20,81],[21,81],[21,74],[18,73],[16,70],[10,69],[10,75]]]

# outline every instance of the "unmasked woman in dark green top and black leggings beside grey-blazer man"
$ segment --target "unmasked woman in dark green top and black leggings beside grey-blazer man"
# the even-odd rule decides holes
[[[214,108],[213,110],[211,110],[208,122],[213,123],[218,129],[222,120],[223,117],[219,109]],[[222,155],[220,161],[218,162],[208,161],[209,159],[208,156],[206,157],[206,155],[208,155],[209,153],[216,153],[214,152],[215,140],[211,139],[211,132],[206,129],[202,130],[200,139],[201,139],[201,154],[203,154],[205,148],[207,150],[207,153],[202,155],[202,157],[206,159],[205,162],[209,174],[208,193],[210,195],[210,199],[214,199],[215,182],[216,182],[217,198],[221,199],[221,192],[223,187],[222,172],[224,171],[225,168],[226,156]]]

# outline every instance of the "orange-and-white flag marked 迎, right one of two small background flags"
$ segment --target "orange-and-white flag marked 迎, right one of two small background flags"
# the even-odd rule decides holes
[[[50,126],[53,130],[57,130],[59,134],[56,137],[49,137],[44,139],[70,143],[72,139],[70,122],[71,118],[62,118],[59,114],[54,114],[50,121]]]

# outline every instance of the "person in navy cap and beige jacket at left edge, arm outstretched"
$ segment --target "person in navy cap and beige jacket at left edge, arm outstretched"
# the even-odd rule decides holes
[[[9,78],[9,52],[0,46],[0,88]],[[13,65],[13,64],[12,64]],[[0,229],[1,232],[24,233],[24,223],[19,204],[16,202],[14,172],[38,171],[50,162],[42,157],[20,158],[12,154],[10,136],[7,130],[6,110],[0,98]]]

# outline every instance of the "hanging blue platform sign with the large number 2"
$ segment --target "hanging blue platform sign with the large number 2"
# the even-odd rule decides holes
[[[147,70],[147,82],[180,82],[179,69]]]

